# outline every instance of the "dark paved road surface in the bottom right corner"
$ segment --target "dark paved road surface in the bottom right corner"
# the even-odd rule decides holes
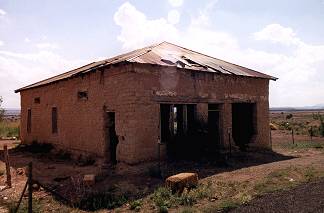
[[[230,212],[324,212],[324,179],[264,195]]]

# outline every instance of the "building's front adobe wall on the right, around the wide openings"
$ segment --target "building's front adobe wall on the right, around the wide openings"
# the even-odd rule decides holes
[[[160,103],[196,103],[197,117],[207,122],[208,103],[221,104],[221,141],[228,147],[232,127],[232,103],[257,105],[257,135],[253,146],[269,148],[269,102],[267,79],[183,71],[175,67],[137,65],[135,117],[137,120],[136,153],[157,158],[160,136]],[[242,124],[244,125],[244,124]],[[252,145],[252,144],[251,144]]]

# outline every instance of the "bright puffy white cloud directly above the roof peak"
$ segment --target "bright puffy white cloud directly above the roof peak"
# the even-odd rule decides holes
[[[162,40],[174,40],[178,30],[165,18],[148,19],[129,2],[122,4],[114,14],[115,23],[121,27],[118,40],[124,49],[134,49]]]

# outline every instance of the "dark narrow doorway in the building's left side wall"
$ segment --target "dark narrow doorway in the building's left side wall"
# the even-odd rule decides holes
[[[115,112],[106,112],[106,143],[109,147],[110,160],[117,164],[118,136],[115,128]]]

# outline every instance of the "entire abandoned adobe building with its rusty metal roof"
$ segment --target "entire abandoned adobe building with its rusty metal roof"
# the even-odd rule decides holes
[[[163,42],[16,90],[21,140],[130,164],[270,148],[269,80]]]

